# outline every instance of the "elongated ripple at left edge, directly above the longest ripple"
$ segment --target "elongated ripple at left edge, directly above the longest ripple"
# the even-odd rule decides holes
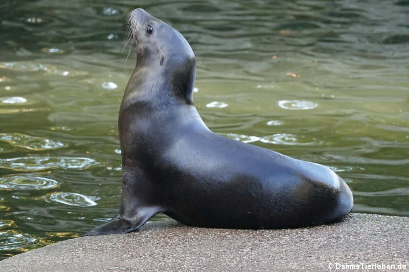
[[[22,133],[0,133],[0,141],[5,141],[13,146],[24,147],[29,150],[49,150],[59,149],[67,146],[66,144],[42,137],[34,137]]]

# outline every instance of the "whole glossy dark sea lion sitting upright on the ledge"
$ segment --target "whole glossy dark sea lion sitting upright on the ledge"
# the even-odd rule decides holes
[[[351,190],[328,167],[211,132],[193,105],[186,39],[142,9],[129,24],[137,65],[119,113],[121,206],[87,235],[130,232],[160,212],[191,226],[273,229],[351,211]]]

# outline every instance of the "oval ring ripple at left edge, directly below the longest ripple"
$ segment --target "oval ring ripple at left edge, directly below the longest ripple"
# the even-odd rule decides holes
[[[52,179],[36,176],[9,176],[0,178],[0,189],[4,190],[41,190],[58,186]]]

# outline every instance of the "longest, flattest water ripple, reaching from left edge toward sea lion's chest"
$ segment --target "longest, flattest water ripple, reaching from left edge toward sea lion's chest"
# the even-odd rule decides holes
[[[86,169],[97,165],[96,160],[90,158],[76,157],[17,157],[0,159],[0,168],[12,169],[16,171],[38,171],[46,169]]]

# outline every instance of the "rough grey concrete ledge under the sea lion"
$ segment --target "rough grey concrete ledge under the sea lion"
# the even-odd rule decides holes
[[[169,219],[48,245],[1,261],[0,271],[328,271],[337,263],[409,271],[408,244],[409,217],[351,213],[332,225],[285,230],[195,228]],[[359,271],[375,270],[368,268]]]

